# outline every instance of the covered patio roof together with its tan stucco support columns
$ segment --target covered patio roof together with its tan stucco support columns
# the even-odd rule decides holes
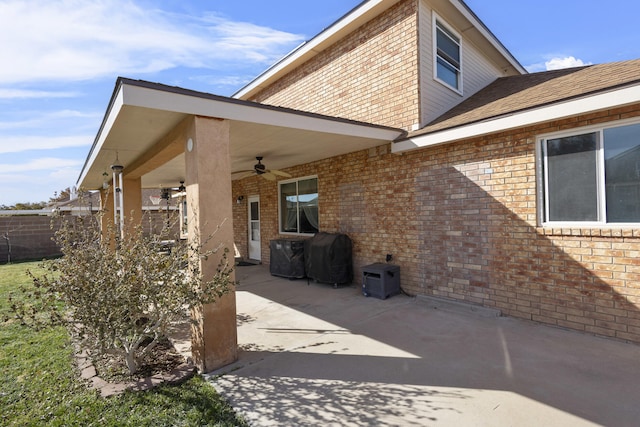
[[[389,143],[398,129],[310,114],[178,87],[118,78],[102,125],[78,178],[100,190],[103,229],[142,216],[143,188],[185,186],[187,239],[233,250],[231,181],[251,170],[257,156],[270,169],[292,166]],[[113,174],[113,180],[110,179]],[[275,186],[275,182],[273,183]],[[275,187],[274,187],[275,188]],[[210,237],[213,236],[212,239]],[[220,253],[221,256],[221,253]],[[216,273],[220,257],[201,259]],[[208,372],[237,359],[235,294],[194,314],[193,356]]]

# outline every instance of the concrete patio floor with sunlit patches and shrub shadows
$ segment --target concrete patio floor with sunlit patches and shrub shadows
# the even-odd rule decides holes
[[[640,346],[265,266],[237,279],[240,359],[206,378],[252,425],[640,424]]]

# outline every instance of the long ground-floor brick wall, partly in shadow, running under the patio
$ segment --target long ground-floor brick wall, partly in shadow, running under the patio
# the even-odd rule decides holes
[[[392,254],[410,294],[640,342],[640,230],[546,229],[536,223],[536,135],[640,116],[624,109],[394,155],[388,146],[287,169],[317,175],[321,231],[354,242],[361,267]],[[278,235],[277,185],[259,194],[263,261]],[[246,256],[246,203],[234,211]]]

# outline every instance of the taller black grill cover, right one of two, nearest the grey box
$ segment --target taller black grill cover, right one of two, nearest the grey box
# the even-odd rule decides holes
[[[304,242],[307,277],[322,283],[353,282],[352,243],[346,234],[318,233]]]

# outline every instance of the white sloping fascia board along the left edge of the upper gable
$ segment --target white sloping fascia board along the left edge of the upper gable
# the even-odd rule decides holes
[[[293,64],[299,65],[298,62],[306,57],[312,57],[322,52],[327,43],[331,44],[335,39],[343,37],[341,33],[349,28],[355,29],[364,22],[369,21],[377,16],[381,11],[386,10],[398,3],[400,0],[370,0],[365,2],[352,11],[347,16],[336,21],[332,26],[295,49],[292,53],[285,56],[280,62],[267,69],[264,73],[250,82],[247,86],[240,89],[232,97],[237,99],[247,99],[253,92],[269,85],[269,80],[279,73],[283,72]],[[373,14],[372,14],[373,12]],[[345,33],[346,34],[346,33]]]

